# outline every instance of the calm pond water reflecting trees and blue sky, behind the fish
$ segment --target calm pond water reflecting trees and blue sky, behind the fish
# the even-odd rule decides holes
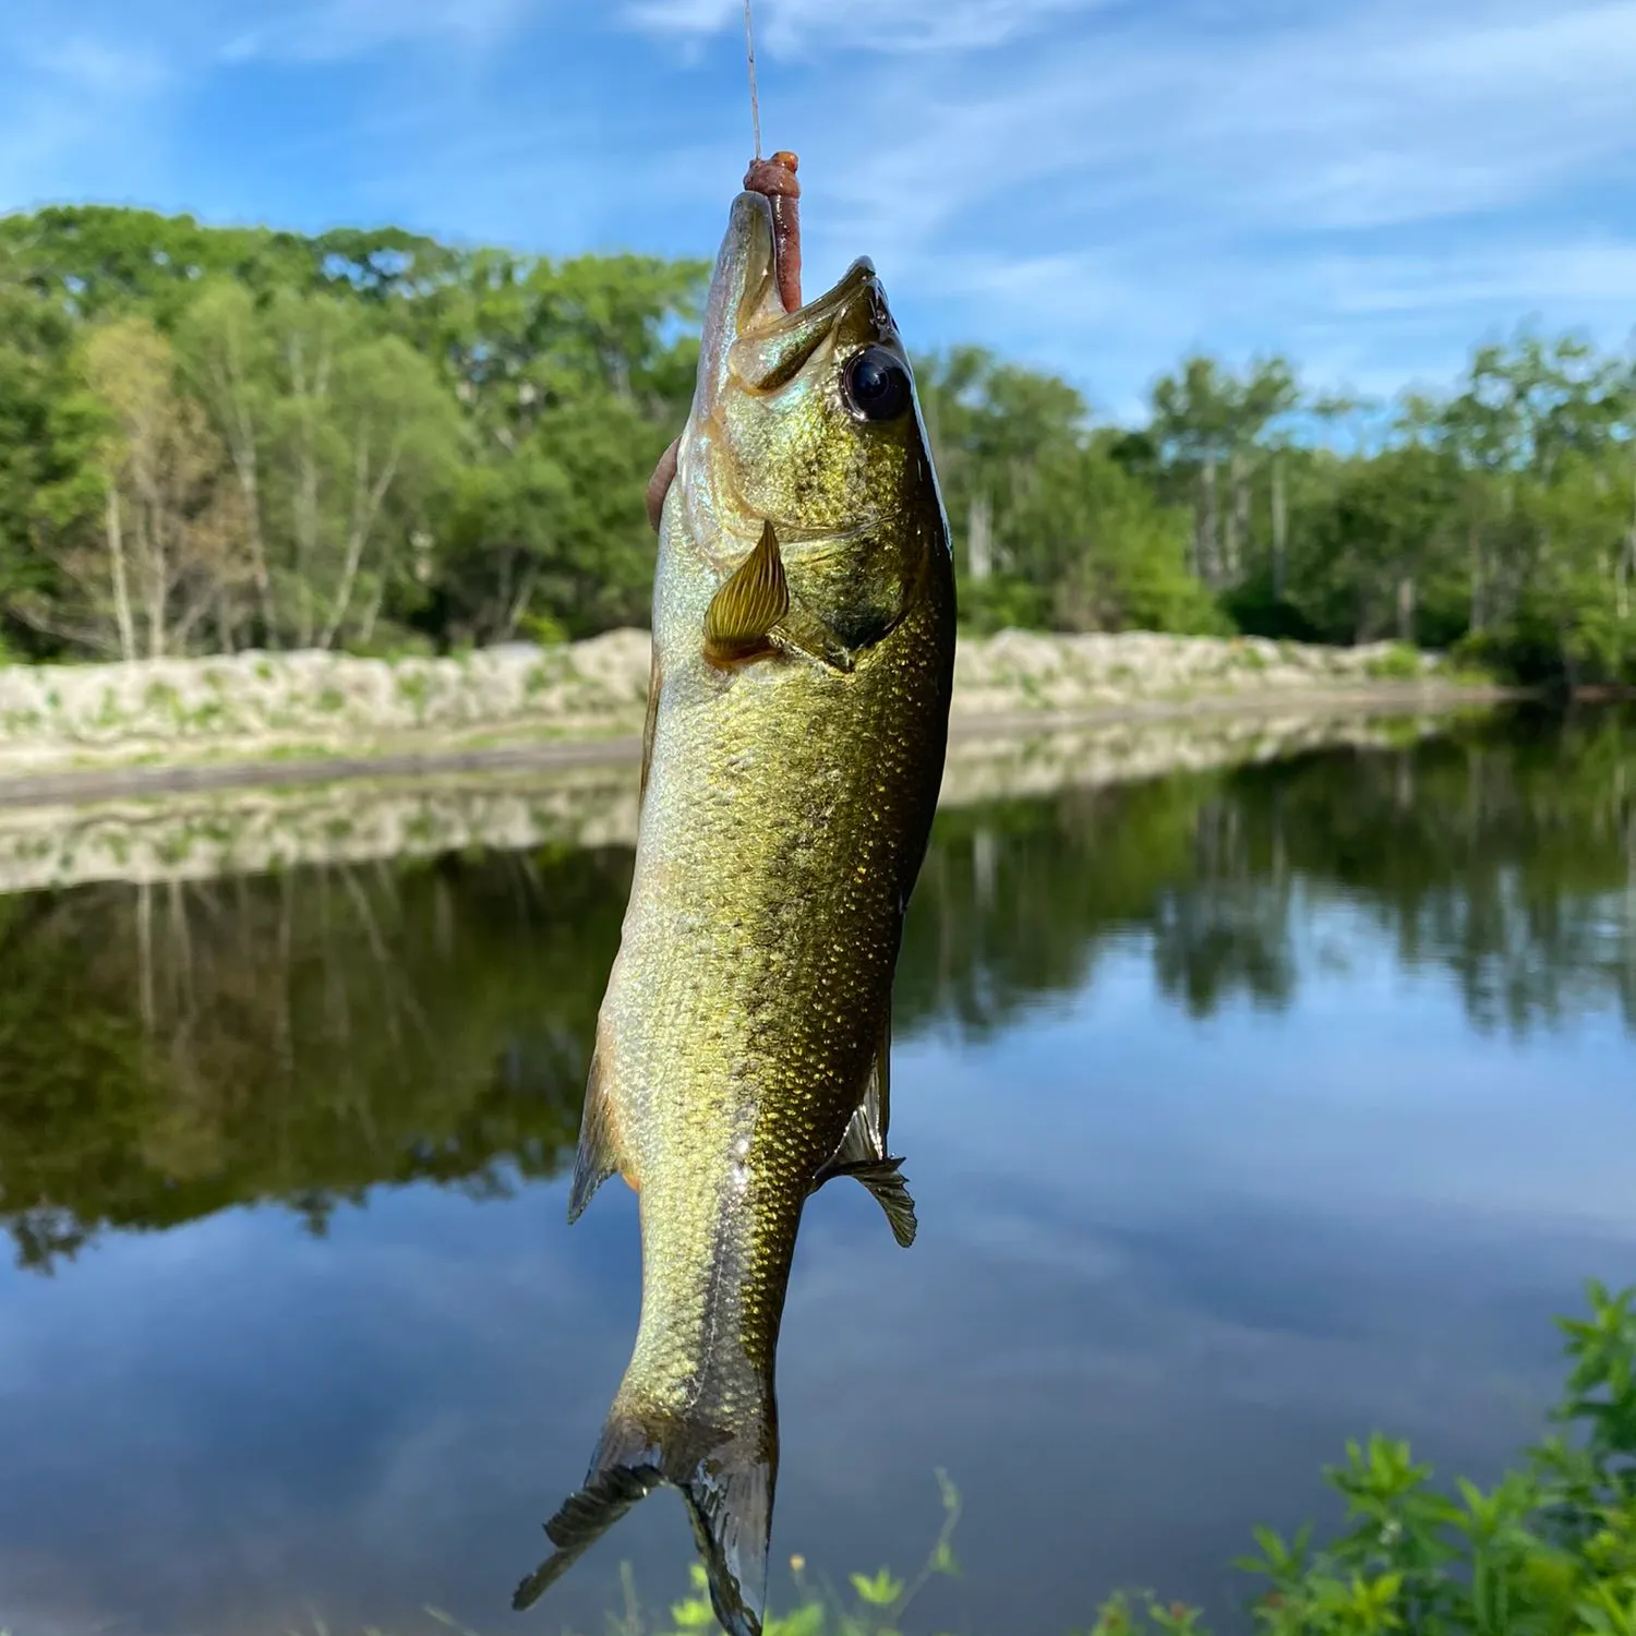
[[[659,1494],[507,1607],[636,1320],[630,1194],[564,1224],[628,877],[0,898],[0,1626],[594,1636],[620,1557],[685,1582]],[[1636,1274],[1636,718],[946,810],[897,1018],[921,1238],[808,1207],[775,1557],[915,1566],[942,1466],[916,1628],[1230,1608],[1345,1436],[1492,1474]]]

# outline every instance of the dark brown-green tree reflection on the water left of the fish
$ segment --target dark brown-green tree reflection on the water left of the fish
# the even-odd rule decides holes
[[[571,1155],[630,856],[443,857],[0,898],[0,1201],[25,1266],[103,1229]]]

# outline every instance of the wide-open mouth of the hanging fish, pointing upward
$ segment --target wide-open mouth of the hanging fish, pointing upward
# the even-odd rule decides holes
[[[762,193],[739,193],[710,280],[697,407],[708,416],[731,378],[759,391],[784,384],[862,301],[869,303],[879,337],[897,342],[897,326],[867,255],[852,262],[833,288],[785,312],[779,298],[772,203]]]

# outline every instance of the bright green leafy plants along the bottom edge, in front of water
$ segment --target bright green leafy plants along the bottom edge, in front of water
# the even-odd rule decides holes
[[[1348,1443],[1325,1477],[1346,1505],[1340,1535],[1314,1549],[1258,1528],[1256,1556],[1237,1566],[1268,1589],[1253,1600],[1266,1636],[1373,1636],[1376,1631],[1636,1636],[1636,1286],[1589,1286],[1589,1317],[1559,1319],[1569,1376],[1553,1420],[1567,1435],[1526,1449],[1492,1487],[1464,1477],[1433,1485],[1409,1445],[1376,1435]],[[766,1636],[900,1636],[903,1616],[934,1575],[960,1572],[951,1539],[960,1497],[939,1472],[944,1523],[910,1582],[880,1569],[854,1574],[846,1593],[792,1559],[798,1605],[767,1620]],[[609,1636],[715,1631],[703,1572],[694,1593],[648,1618],[627,1575],[627,1605]],[[1076,1636],[1204,1633],[1202,1613],[1152,1592],[1121,1592]]]

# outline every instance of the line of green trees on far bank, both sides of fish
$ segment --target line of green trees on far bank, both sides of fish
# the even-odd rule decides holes
[[[0,218],[0,653],[447,651],[645,623],[703,262]],[[1189,357],[1137,429],[916,360],[978,630],[1399,638],[1636,682],[1636,365],[1521,329],[1446,391]]]

